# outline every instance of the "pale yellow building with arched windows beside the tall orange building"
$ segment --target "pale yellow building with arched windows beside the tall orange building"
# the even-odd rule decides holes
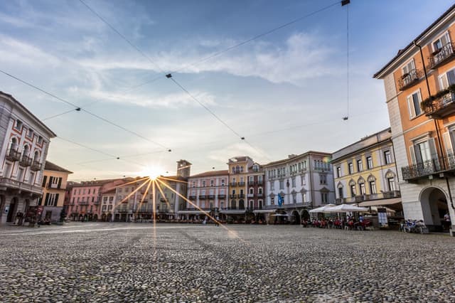
[[[402,211],[390,128],[333,153],[336,203]]]

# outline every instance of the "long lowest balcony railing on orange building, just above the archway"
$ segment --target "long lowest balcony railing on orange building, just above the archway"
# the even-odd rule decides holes
[[[431,176],[432,174],[438,174],[443,171],[453,170],[455,170],[455,156],[453,154],[444,156],[442,159],[439,159],[439,156],[434,156],[433,159],[405,166],[401,169],[403,179],[406,181],[420,179],[422,177]]]

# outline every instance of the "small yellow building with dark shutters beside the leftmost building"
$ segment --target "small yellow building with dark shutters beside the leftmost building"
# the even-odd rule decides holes
[[[73,171],[68,171],[45,161],[42,184],[43,196],[38,199],[38,206],[44,206],[41,218],[53,222],[60,221],[69,174],[73,174]]]

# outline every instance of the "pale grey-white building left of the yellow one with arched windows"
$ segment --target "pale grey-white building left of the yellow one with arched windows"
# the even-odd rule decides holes
[[[331,154],[308,151],[264,165],[266,208],[255,213],[269,222],[290,220],[299,224],[308,211],[335,202]]]

